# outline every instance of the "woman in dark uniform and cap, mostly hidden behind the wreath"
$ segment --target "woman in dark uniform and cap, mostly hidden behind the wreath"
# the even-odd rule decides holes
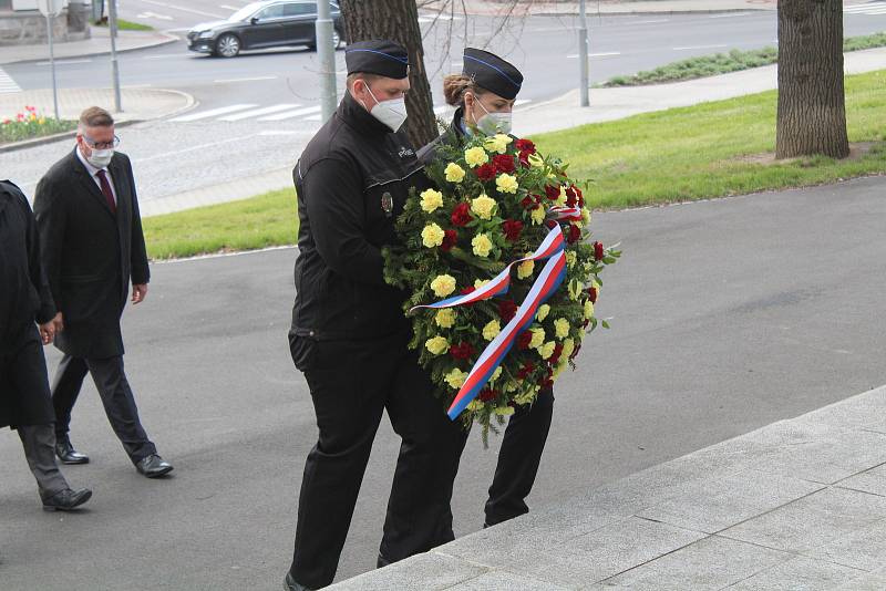
[[[462,73],[443,79],[446,103],[457,107],[452,124],[419,151],[419,159],[423,164],[433,162],[442,142],[462,142],[477,129],[487,135],[509,133],[522,84],[523,74],[508,62],[487,51],[465,48]],[[511,416],[490,487],[484,526],[528,512],[525,499],[538,471],[553,412],[554,392],[545,387],[532,406],[517,407]]]

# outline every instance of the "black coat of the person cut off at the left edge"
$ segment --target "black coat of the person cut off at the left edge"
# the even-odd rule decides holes
[[[41,397],[17,386],[31,381],[21,375],[25,372],[42,372],[45,382],[42,355],[32,355],[39,363],[28,363],[34,359],[19,353],[28,345],[40,350],[34,320],[42,324],[54,315],[31,206],[16,185],[0,180],[0,427],[55,419],[48,393]],[[16,380],[11,370],[20,374]]]

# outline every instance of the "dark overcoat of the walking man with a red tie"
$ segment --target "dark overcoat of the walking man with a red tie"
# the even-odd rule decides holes
[[[140,284],[151,277],[130,158],[117,152],[107,169],[116,212],[75,152],[37,185],[43,266],[64,319],[55,346],[79,357],[123,354],[120,317],[130,279]]]

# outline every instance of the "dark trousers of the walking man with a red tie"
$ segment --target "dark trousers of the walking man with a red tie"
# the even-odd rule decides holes
[[[52,405],[55,408],[55,437],[68,437],[71,426],[71,411],[80,395],[83,379],[86,373],[92,374],[95,387],[104,405],[104,412],[111,427],[116,433],[120,443],[128,454],[133,464],[138,464],[150,455],[156,454],[157,448],[147,438],[144,427],[138,419],[138,408],[135,405],[126,373],[123,370],[123,356],[116,355],[107,359],[74,357],[65,354],[55,371],[52,382]]]

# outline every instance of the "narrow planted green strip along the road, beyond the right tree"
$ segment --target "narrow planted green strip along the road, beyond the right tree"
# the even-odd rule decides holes
[[[859,51],[886,46],[886,32],[870,35],[851,37],[843,41],[843,51]],[[763,48],[751,51],[732,50],[729,53],[715,53],[689,58],[669,63],[655,70],[638,72],[629,76],[615,76],[601,86],[642,86],[646,84],[663,84],[681,80],[728,74],[740,70],[750,70],[761,65],[770,65],[779,61],[776,48]]]

